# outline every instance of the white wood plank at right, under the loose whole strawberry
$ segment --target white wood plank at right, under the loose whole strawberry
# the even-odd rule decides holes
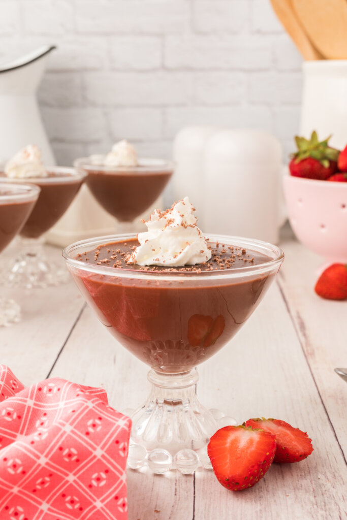
[[[314,292],[324,259],[296,241],[282,244],[286,254],[278,278],[318,391],[347,459],[347,385],[334,372],[347,367],[347,301]]]

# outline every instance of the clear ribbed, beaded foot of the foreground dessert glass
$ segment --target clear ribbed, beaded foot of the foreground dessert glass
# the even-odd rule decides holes
[[[224,413],[204,408],[197,399],[196,369],[180,374],[163,374],[150,370],[151,392],[137,410],[124,410],[133,426],[128,466],[148,466],[162,474],[176,469],[194,473],[199,466],[212,469],[207,445],[221,427],[237,422]]]

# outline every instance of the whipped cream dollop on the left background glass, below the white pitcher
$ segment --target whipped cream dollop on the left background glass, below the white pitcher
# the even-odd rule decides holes
[[[7,161],[4,171],[7,177],[18,179],[48,176],[41,160],[41,150],[36,145],[25,146],[16,153]]]

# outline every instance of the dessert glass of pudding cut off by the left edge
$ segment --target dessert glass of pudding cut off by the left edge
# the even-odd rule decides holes
[[[39,193],[37,186],[0,182],[0,252],[23,227]],[[0,326],[7,326],[19,319],[19,305],[0,297]]]

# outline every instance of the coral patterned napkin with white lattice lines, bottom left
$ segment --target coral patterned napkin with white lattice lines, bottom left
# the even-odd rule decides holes
[[[126,520],[130,429],[102,388],[0,365],[1,520]]]

